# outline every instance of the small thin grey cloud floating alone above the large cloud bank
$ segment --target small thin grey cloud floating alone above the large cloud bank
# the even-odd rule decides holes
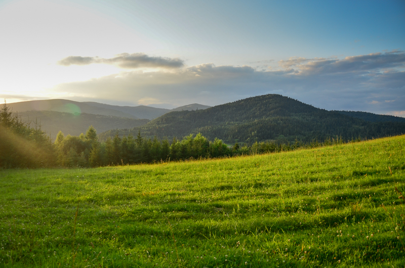
[[[114,58],[69,56],[57,62],[59,65],[89,65],[92,63],[111,64],[123,69],[137,68],[180,68],[184,62],[179,58],[150,57],[143,53],[122,53]]]

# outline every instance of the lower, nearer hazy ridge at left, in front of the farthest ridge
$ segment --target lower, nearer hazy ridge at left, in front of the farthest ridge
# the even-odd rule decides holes
[[[31,127],[35,126],[36,119],[37,125],[41,125],[41,129],[50,134],[52,139],[56,138],[59,130],[64,135],[78,136],[80,133],[86,133],[90,125],[93,125],[100,133],[110,129],[133,128],[149,122],[148,119],[55,111],[28,111],[19,112],[18,115],[24,122],[31,122]]]

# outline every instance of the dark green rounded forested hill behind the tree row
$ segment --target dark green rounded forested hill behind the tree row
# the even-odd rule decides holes
[[[343,139],[373,138],[405,133],[403,122],[368,122],[336,111],[327,111],[281,95],[264,95],[218,105],[205,110],[170,112],[119,135],[167,137],[169,140],[200,132],[209,140],[226,143],[298,139],[322,141],[336,136]],[[100,134],[113,137],[116,131]]]

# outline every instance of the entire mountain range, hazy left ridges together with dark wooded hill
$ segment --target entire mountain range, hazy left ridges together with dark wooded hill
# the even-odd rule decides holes
[[[284,139],[311,141],[384,137],[405,133],[405,118],[367,112],[327,111],[281,95],[263,95],[210,107],[190,104],[172,110],[69,100],[9,104],[24,121],[37,120],[56,137],[79,135],[93,125],[100,140],[141,131],[144,137],[178,138],[201,132],[227,143]],[[153,120],[152,120],[153,119]],[[150,121],[152,120],[152,121]]]

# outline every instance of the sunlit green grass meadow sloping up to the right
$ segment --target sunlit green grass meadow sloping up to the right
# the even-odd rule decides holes
[[[405,136],[0,170],[1,267],[403,267]]]

